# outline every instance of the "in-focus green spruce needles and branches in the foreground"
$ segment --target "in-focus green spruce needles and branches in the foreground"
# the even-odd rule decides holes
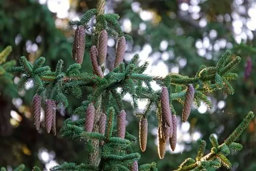
[[[63,138],[80,140],[85,143],[85,150],[89,154],[88,162],[80,164],[65,162],[61,165],[54,166],[51,170],[132,169],[134,163],[138,162],[141,156],[139,153],[134,152],[131,146],[132,143],[137,141],[136,137],[125,132],[125,126],[123,128],[123,125],[125,125],[126,113],[123,110],[124,104],[122,98],[126,94],[131,95],[133,106],[136,111],[138,111],[137,101],[139,99],[148,100],[144,111],[137,113],[137,117],[140,119],[148,118],[148,116],[151,115],[150,112],[153,106],[156,106],[156,118],[158,119],[159,126],[158,139],[159,144],[161,143],[161,147],[159,147],[159,150],[161,150],[161,152],[159,152],[159,157],[162,159],[165,154],[166,140],[172,138],[173,135],[173,133],[170,135],[168,134],[169,137],[164,135],[163,124],[166,123],[166,127],[172,127],[172,122],[170,120],[173,118],[172,115],[177,114],[175,106],[173,106],[173,101],[180,102],[184,105],[184,108],[190,108],[190,103],[192,101],[187,104],[186,95],[191,93],[189,92],[191,86],[193,87],[193,96],[191,96],[193,98],[190,100],[193,100],[196,106],[199,106],[199,104],[203,102],[208,108],[211,108],[212,104],[204,93],[211,93],[218,90],[223,90],[230,95],[234,93],[230,81],[236,80],[238,75],[231,71],[239,64],[241,57],[237,56],[230,60],[230,51],[224,53],[218,60],[216,66],[201,66],[195,77],[183,76],[176,73],[169,73],[166,77],[156,77],[143,74],[148,63],[145,62],[144,65],[138,66],[138,54],[135,54],[131,62],[125,65],[125,63],[122,62],[123,53],[119,53],[122,50],[118,50],[119,48],[117,48],[117,57],[113,71],[103,75],[103,73],[105,73],[104,66],[101,67],[100,63],[98,63],[99,59],[95,60],[98,57],[98,52],[101,48],[97,47],[100,45],[100,33],[105,30],[110,36],[118,38],[120,41],[122,41],[124,37],[126,40],[131,40],[131,37],[122,32],[118,23],[119,16],[117,14],[100,13],[104,7],[102,4],[104,4],[104,1],[98,1],[97,9],[88,10],[83,15],[80,22],[70,22],[70,26],[84,26],[88,28],[89,26],[87,26],[87,24],[89,20],[96,15],[96,24],[92,29],[92,40],[84,45],[85,49],[91,49],[91,61],[94,69],[93,74],[80,72],[81,62],[74,63],[73,65],[70,65],[66,71],[63,71],[64,61],[61,59],[58,60],[56,69],[52,70],[49,66],[43,66],[46,61],[44,57],[39,57],[32,63],[25,56],[22,56],[19,59],[19,66],[11,67],[9,69],[11,73],[18,72],[24,74],[16,84],[17,91],[23,90],[25,84],[28,81],[33,80],[37,87],[36,95],[46,96],[45,103],[48,103],[47,100],[51,100],[54,104],[57,104],[57,106],[54,106],[52,102],[50,102],[49,105],[46,104],[47,109],[49,108],[49,111],[51,112],[52,110],[55,110],[55,108],[60,110],[61,106],[67,107],[69,105],[68,94],[70,92],[72,92],[74,97],[80,98],[84,87],[93,89],[93,92],[88,95],[87,100],[83,101],[72,114],[81,117],[85,115],[86,117],[76,121],[66,119],[61,128]],[[8,63],[5,62],[5,59],[9,51],[10,47],[7,47],[7,49],[0,54],[1,66],[4,71],[3,76],[7,73],[5,71],[10,66],[15,65],[15,62],[9,61],[9,64],[6,64],[7,67],[4,66],[5,63]],[[5,63],[2,65],[2,62]],[[116,65],[116,63],[118,63],[118,65]],[[1,71],[2,68],[0,68]],[[154,91],[151,88],[151,83],[153,81],[164,88],[164,97],[163,92],[160,90]],[[145,86],[143,86],[143,83]],[[118,90],[120,88],[121,91]],[[91,109],[91,107],[93,107],[93,109]],[[186,117],[188,117],[190,109],[188,111]],[[92,113],[93,115],[91,115]],[[101,113],[106,115],[104,134],[99,133],[99,122],[101,121],[99,118]],[[119,118],[121,119],[119,120]],[[253,118],[253,113],[249,112],[237,129],[234,130],[233,133],[231,133],[220,145],[217,139],[211,135],[209,138],[212,144],[211,152],[205,156],[204,150],[206,141],[199,139],[197,157],[195,159],[186,159],[177,170],[215,170],[222,165],[226,168],[230,168],[231,162],[226,156],[230,154],[231,150],[238,151],[242,149],[242,145],[234,141],[239,138]],[[115,120],[118,120],[117,126],[115,125]],[[52,119],[50,119],[50,121],[52,121]],[[89,121],[91,122],[89,123]],[[45,127],[49,133],[52,129],[52,124],[50,126],[47,126],[46,124]],[[120,132],[125,135],[123,136]],[[99,147],[101,149],[100,153]],[[142,151],[144,151],[144,149],[145,147],[143,147]],[[98,161],[98,158],[100,158],[100,161]],[[16,169],[23,170],[25,169],[25,166],[20,165]],[[138,166],[138,169],[158,170],[155,162],[140,165]],[[5,168],[2,167],[1,170],[5,170]],[[35,167],[34,170],[39,170],[39,168]]]

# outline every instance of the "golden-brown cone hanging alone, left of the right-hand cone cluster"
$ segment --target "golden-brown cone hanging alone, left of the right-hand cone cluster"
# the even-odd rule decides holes
[[[147,143],[147,119],[140,119],[140,149],[142,152],[146,150]]]

